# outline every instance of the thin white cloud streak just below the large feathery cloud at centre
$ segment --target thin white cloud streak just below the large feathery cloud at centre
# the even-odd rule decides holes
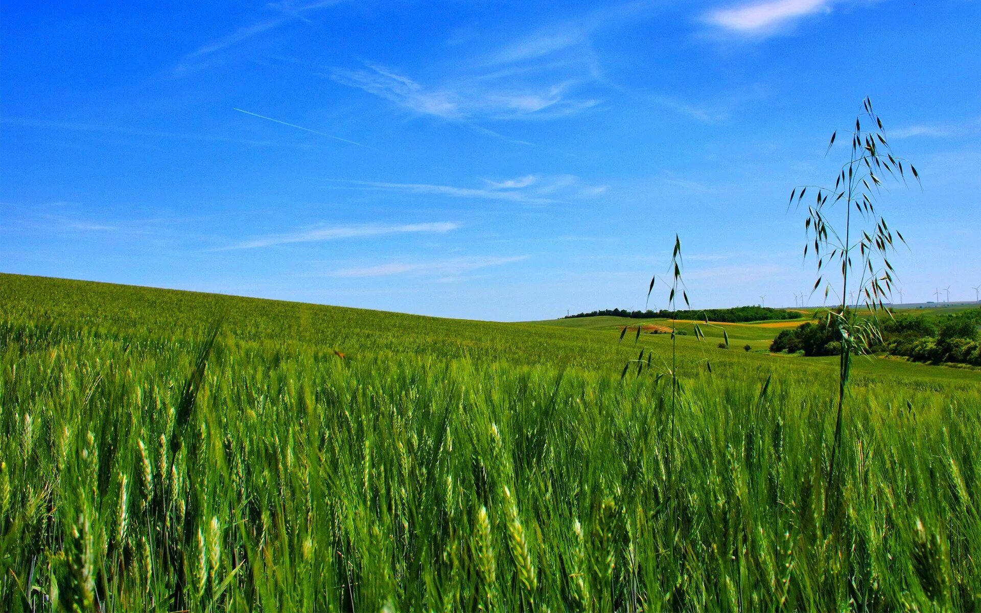
[[[337,179],[328,186],[336,189],[395,191],[407,194],[432,194],[452,198],[502,200],[529,204],[551,204],[569,198],[588,198],[606,191],[606,185],[589,185],[574,175],[526,175],[517,179],[483,179],[483,187],[460,187],[434,183],[397,183],[387,181]]]

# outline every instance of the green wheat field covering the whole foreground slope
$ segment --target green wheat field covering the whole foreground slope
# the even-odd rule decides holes
[[[837,358],[597,319],[0,275],[0,609],[981,608],[981,372],[856,358],[832,500]]]

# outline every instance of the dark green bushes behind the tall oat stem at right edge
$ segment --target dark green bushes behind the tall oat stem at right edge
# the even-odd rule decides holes
[[[902,355],[914,362],[958,363],[981,366],[981,309],[945,317],[899,315],[882,325],[882,339],[872,345],[876,352]],[[770,351],[802,352],[807,356],[838,355],[840,332],[826,322],[807,323],[780,332]]]

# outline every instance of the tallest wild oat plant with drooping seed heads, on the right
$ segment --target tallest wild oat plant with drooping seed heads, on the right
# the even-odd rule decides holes
[[[831,134],[826,155],[834,148],[838,131]],[[869,98],[862,100],[862,112],[849,131],[849,157],[835,177],[834,187],[800,185],[791,191],[790,198],[790,205],[796,201],[799,208],[808,203],[803,257],[816,260],[817,280],[812,293],[823,286],[825,299],[837,293],[840,300],[825,313],[827,325],[838,330],[842,345],[835,438],[828,465],[829,492],[836,479],[852,355],[868,352],[881,340],[879,316],[891,316],[888,303],[896,275],[889,257],[898,241],[905,244],[903,234],[892,230],[879,213],[879,197],[885,181],[905,184],[907,172],[919,182],[916,169],[893,153],[886,128]],[[804,199],[808,190],[814,193],[813,200]],[[849,296],[854,297],[851,305]],[[862,314],[858,313],[859,304]]]

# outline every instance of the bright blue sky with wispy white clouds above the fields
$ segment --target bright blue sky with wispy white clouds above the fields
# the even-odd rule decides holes
[[[678,232],[693,306],[793,305],[869,95],[904,300],[981,283],[977,1],[0,11],[3,272],[529,320],[643,307]]]

